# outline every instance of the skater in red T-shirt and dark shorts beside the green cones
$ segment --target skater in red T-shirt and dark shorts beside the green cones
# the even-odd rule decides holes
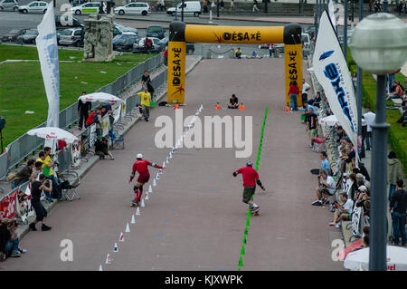
[[[238,169],[233,172],[233,177],[241,174],[243,177],[243,203],[250,205],[251,215],[260,215],[260,207],[254,204],[253,195],[256,189],[256,183],[260,186],[262,190],[266,188],[261,185],[259,174],[256,169],[253,169],[253,163],[249,160],[246,163],[246,167]]]

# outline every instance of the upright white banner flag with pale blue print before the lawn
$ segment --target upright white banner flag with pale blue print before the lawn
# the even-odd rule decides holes
[[[43,84],[48,99],[47,127],[59,127],[60,113],[60,65],[58,62],[58,43],[56,38],[55,14],[53,4],[50,2],[43,21],[38,24],[37,44],[38,57],[43,73]],[[54,149],[55,145],[45,145]]]

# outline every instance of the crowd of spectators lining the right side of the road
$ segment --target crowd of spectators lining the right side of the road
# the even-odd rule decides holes
[[[318,107],[316,102],[319,102]],[[329,226],[340,228],[342,221],[352,221],[352,226],[357,226],[352,227],[352,236],[359,239],[361,246],[368,246],[371,178],[362,160],[365,158],[365,150],[370,150],[373,145],[371,138],[375,114],[369,108],[366,109],[362,138],[358,146],[355,146],[340,125],[336,124],[335,128],[322,128],[318,125],[318,118],[332,114],[323,92],[317,92],[314,98],[304,101],[303,108],[303,120],[311,140],[309,148],[315,148],[319,135],[327,137],[324,143],[326,150],[319,152],[320,168],[317,171],[313,169],[314,173],[318,172],[318,178],[316,200],[312,202],[312,206],[325,206],[333,212],[332,221],[327,223]],[[314,151],[317,152],[315,149]],[[356,151],[359,161],[356,161]],[[393,220],[393,226],[389,227],[392,230],[390,241],[399,245],[401,236],[401,244],[406,246],[407,192],[403,189],[404,170],[393,151],[388,155],[387,173],[388,208]]]

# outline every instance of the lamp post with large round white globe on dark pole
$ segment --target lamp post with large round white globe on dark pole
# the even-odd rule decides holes
[[[377,74],[376,118],[372,124],[372,182],[370,206],[369,270],[386,270],[387,130],[386,74],[396,71],[407,58],[407,27],[393,14],[376,13],[355,27],[349,47],[357,65]]]

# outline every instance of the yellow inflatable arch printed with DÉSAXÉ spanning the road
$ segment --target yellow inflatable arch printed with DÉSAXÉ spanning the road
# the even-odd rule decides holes
[[[167,102],[185,102],[185,49],[192,43],[284,43],[286,104],[289,106],[289,83],[297,81],[302,90],[301,26],[218,26],[194,25],[174,21],[169,26]],[[301,97],[297,100],[302,105]]]

